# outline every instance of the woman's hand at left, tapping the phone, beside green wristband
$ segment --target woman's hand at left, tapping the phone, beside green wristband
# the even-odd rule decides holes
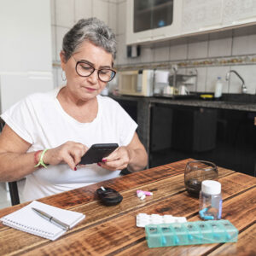
[[[44,154],[44,163],[55,166],[64,162],[76,171],[76,166],[87,150],[88,147],[82,143],[67,142],[59,147],[47,150]]]

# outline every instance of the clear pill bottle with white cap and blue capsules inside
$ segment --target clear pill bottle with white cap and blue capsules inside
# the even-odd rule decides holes
[[[199,201],[199,215],[202,219],[220,219],[222,212],[221,183],[204,180],[201,183]]]

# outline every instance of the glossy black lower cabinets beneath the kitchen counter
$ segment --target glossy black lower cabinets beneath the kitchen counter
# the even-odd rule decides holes
[[[255,176],[255,112],[159,104],[151,113],[150,167],[194,158]]]

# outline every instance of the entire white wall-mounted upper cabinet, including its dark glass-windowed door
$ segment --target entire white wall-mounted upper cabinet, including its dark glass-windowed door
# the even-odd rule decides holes
[[[126,44],[256,23],[256,0],[127,0]]]

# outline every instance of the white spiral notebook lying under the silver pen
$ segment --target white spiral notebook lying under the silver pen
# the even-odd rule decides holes
[[[75,224],[78,224],[83,218],[85,218],[85,215],[80,212],[64,210],[38,201],[32,201],[32,203],[26,207],[4,216],[3,218],[0,218],[0,220],[4,225],[12,227],[16,230],[22,230],[50,240],[55,240],[66,232],[66,230],[62,230],[55,224],[52,224],[48,220],[40,217],[32,210],[32,207],[47,212],[49,215],[58,218],[61,220],[61,222],[68,224],[70,228],[73,228]]]

